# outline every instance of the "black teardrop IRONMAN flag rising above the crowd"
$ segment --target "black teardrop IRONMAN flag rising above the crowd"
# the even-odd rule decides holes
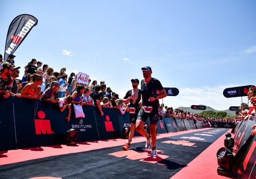
[[[37,26],[37,18],[32,15],[22,14],[12,20],[6,37],[5,61],[7,60],[8,55],[13,54],[18,46],[21,45],[21,42],[26,38],[34,26]]]

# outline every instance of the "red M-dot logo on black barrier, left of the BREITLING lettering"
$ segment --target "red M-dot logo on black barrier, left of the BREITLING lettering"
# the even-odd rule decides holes
[[[45,118],[45,113],[43,111],[38,111],[37,116],[40,119],[35,119],[35,130],[36,134],[53,134],[51,128],[51,123],[49,119]]]

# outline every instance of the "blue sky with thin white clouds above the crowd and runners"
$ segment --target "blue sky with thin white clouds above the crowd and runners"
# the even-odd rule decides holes
[[[0,7],[0,54],[17,15],[38,19],[14,53],[16,66],[36,58],[55,71],[84,72],[120,97],[151,66],[164,87],[179,89],[163,99],[174,108],[226,110],[241,97],[225,98],[225,88],[255,85],[254,0],[5,0]]]

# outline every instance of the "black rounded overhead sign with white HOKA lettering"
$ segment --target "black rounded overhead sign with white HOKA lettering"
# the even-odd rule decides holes
[[[226,88],[223,91],[223,95],[225,97],[244,97],[247,96],[247,93],[249,92],[249,88],[251,86],[252,85]]]

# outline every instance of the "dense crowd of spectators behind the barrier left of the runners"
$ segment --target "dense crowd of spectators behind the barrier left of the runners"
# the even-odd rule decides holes
[[[62,112],[68,107],[68,116],[70,119],[70,105],[94,105],[99,108],[99,113],[103,116],[102,107],[118,108],[121,113],[127,111],[127,107],[120,103],[119,95],[106,87],[104,81],[94,80],[91,84],[81,84],[77,82],[76,74],[72,72],[70,76],[66,74],[66,68],[63,67],[59,72],[53,67],[43,64],[41,61],[32,59],[24,66],[24,75],[20,77],[20,66],[15,66],[13,54],[8,56],[7,61],[3,61],[0,54],[0,94],[1,97],[10,96],[40,99],[59,104]],[[122,100],[121,100],[122,101]],[[117,104],[118,103],[118,104]]]

